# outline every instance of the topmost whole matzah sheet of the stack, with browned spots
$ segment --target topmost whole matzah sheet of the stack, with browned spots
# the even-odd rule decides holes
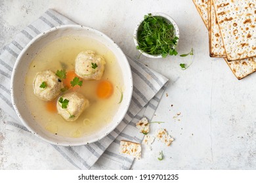
[[[256,56],[256,0],[213,0],[228,61]]]

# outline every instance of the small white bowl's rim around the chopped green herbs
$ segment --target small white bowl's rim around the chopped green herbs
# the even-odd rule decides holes
[[[179,33],[179,27],[178,25],[176,24],[175,20],[173,20],[173,18],[171,18],[171,16],[167,15],[167,14],[164,14],[164,13],[161,13],[161,12],[153,12],[153,13],[150,13],[152,16],[161,16],[163,18],[165,18],[168,22],[170,22],[171,24],[173,24],[173,27],[175,28],[175,36],[177,36],[179,38],[180,36],[180,33]],[[137,27],[135,28],[135,31],[134,31],[134,34],[133,34],[133,41],[135,42],[135,46],[139,46],[138,44],[138,30],[140,29],[140,25],[142,24],[142,22],[144,21],[144,18],[142,20],[140,20],[140,22],[137,24]],[[179,39],[177,40],[177,44],[179,42]],[[150,55],[150,54],[147,54],[146,52],[142,52],[141,50],[139,50],[139,52],[148,57],[148,58],[162,58],[161,55]]]

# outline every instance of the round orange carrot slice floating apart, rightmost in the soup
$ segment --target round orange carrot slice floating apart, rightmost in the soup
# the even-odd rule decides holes
[[[96,94],[100,99],[106,99],[113,93],[113,85],[108,80],[102,80],[98,83]]]

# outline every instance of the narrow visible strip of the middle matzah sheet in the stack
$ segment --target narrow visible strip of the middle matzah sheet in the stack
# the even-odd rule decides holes
[[[211,57],[226,57],[226,52],[217,24],[213,1],[208,0],[208,22],[209,22],[209,53]]]

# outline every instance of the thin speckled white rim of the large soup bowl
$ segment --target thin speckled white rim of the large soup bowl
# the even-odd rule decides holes
[[[95,139],[93,139],[91,141],[75,142],[75,144],[72,143],[72,142],[66,142],[66,141],[65,142],[50,141],[49,139],[47,139],[45,137],[42,137],[41,135],[37,134],[37,132],[34,131],[32,129],[32,127],[30,127],[30,125],[28,125],[28,122],[26,122],[26,120],[24,120],[24,118],[20,114],[20,109],[16,106],[16,102],[15,102],[15,97],[16,96],[14,95],[14,79],[15,79],[15,75],[17,73],[17,66],[20,63],[20,61],[21,61],[22,57],[24,56],[24,54],[26,53],[26,51],[28,50],[28,48],[30,48],[30,46],[32,46],[33,42],[36,42],[38,39],[40,39],[41,37],[49,34],[50,32],[57,31],[58,29],[68,29],[68,28],[72,28],[72,29],[74,29],[74,28],[76,28],[76,29],[87,29],[87,31],[93,31],[96,34],[101,35],[102,37],[104,37],[104,39],[107,39],[108,42],[110,42],[111,44],[113,44],[114,47],[118,50],[118,52],[121,55],[121,57],[126,60],[124,62],[125,63],[125,67],[129,71],[127,71],[128,75],[126,75],[125,77],[127,77],[128,80],[130,80],[130,83],[131,83],[131,86],[125,88],[125,90],[127,90],[127,101],[128,101],[128,103],[125,104],[124,110],[122,112],[119,112],[119,116],[120,117],[119,117],[118,122],[116,122],[115,125],[112,125],[112,127],[109,127],[108,131],[105,132],[105,133],[102,133],[102,135],[100,135],[100,137],[95,138]],[[42,139],[45,142],[48,142],[49,144],[54,144],[54,145],[58,145],[58,146],[81,146],[81,145],[85,145],[85,144],[91,144],[93,142],[99,141],[100,139],[103,139],[104,137],[106,137],[106,135],[111,133],[117,127],[117,125],[120,124],[120,122],[125,117],[125,114],[129,110],[129,106],[131,104],[132,95],[133,95],[133,76],[132,76],[132,73],[131,73],[131,66],[129,64],[127,56],[125,56],[125,54],[123,53],[123,50],[121,50],[121,48],[116,44],[115,41],[110,39],[110,37],[108,37],[106,34],[102,33],[101,31],[98,31],[97,29],[94,29],[92,27],[87,27],[87,26],[83,26],[83,25],[79,25],[79,24],[57,25],[57,26],[51,27],[50,29],[47,29],[47,30],[39,33],[38,35],[36,35],[30,42],[28,42],[28,44],[26,44],[26,46],[24,46],[23,50],[20,52],[20,54],[16,58],[16,61],[14,63],[14,67],[12,69],[12,75],[11,75],[11,102],[12,102],[12,106],[13,106],[16,114],[18,115],[18,118],[20,119],[22,124],[28,129],[28,131],[33,133],[33,135],[39,137],[39,139]]]

